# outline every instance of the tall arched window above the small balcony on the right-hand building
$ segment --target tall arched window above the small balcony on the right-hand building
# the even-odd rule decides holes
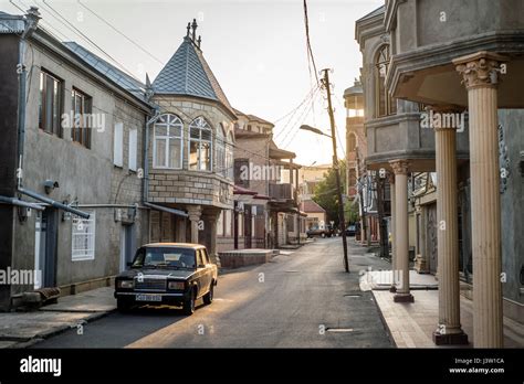
[[[386,75],[389,67],[389,45],[382,45],[375,60],[375,110],[376,117],[397,113],[397,100],[386,89]]]

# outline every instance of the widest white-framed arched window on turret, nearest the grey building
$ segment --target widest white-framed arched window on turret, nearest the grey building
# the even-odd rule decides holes
[[[176,115],[161,115],[155,122],[153,136],[153,167],[182,168],[182,120]]]

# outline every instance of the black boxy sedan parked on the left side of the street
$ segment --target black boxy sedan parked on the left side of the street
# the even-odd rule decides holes
[[[186,314],[192,314],[198,299],[203,298],[208,305],[213,300],[218,268],[210,262],[203,245],[144,245],[129,266],[129,270],[115,279],[119,311],[137,305],[169,305],[181,306]]]

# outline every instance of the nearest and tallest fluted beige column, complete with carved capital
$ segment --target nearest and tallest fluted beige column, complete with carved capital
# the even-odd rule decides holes
[[[473,342],[502,348],[501,202],[496,87],[505,58],[478,52],[453,60],[468,89],[470,111]]]

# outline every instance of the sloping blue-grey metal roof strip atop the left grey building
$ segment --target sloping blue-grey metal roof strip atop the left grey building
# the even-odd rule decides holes
[[[145,100],[145,84],[116,68],[112,64],[107,63],[105,60],[98,57],[93,52],[86,50],[85,47],[75,42],[64,42],[63,44],[72,52],[74,52],[80,58],[82,58],[87,65],[92,66],[103,75],[107,76],[113,82],[115,82],[120,87],[132,93],[139,99]]]

